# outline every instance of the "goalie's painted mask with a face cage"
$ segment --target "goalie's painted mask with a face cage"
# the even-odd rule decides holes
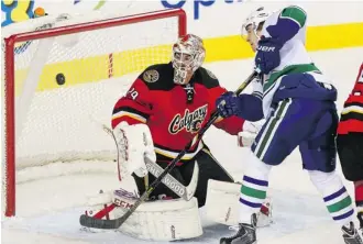
[[[184,85],[187,75],[202,65],[205,56],[206,49],[200,37],[187,34],[178,38],[173,46],[174,82]]]

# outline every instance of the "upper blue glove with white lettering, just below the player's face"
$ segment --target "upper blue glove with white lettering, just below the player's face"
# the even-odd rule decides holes
[[[283,45],[284,42],[277,38],[261,37],[255,57],[255,66],[258,67],[263,74],[270,74],[279,65],[279,49]]]

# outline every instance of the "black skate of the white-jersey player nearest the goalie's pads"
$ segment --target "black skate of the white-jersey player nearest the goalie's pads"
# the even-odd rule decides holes
[[[230,237],[222,237],[220,244],[255,244],[256,243],[256,214],[252,214],[251,224],[240,223],[233,229],[238,232]]]

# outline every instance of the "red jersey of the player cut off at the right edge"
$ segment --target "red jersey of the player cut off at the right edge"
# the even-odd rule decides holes
[[[363,64],[358,74],[353,91],[344,103],[338,125],[338,134],[348,134],[349,132],[363,133]]]

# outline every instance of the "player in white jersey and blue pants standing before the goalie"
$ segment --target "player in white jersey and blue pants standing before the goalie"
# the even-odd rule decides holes
[[[220,243],[256,243],[256,212],[266,197],[270,171],[298,146],[304,169],[342,226],[344,242],[362,244],[352,222],[351,197],[336,174],[337,90],[306,51],[306,20],[301,8],[290,5],[274,13],[260,8],[243,24],[263,81],[254,84],[252,95],[222,95],[217,107],[224,118],[266,118],[266,122],[251,147],[237,233]]]

